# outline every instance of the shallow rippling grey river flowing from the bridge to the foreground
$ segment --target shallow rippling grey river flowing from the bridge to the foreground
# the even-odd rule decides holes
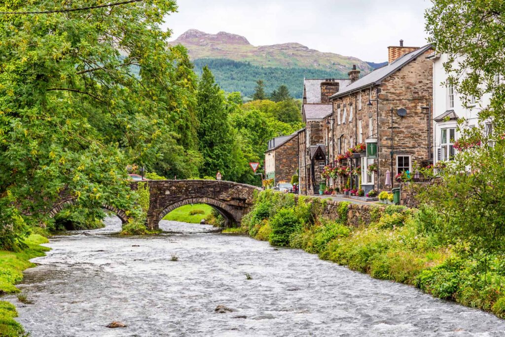
[[[2,298],[31,336],[505,335],[491,314],[301,250],[207,225],[162,221],[172,233],[120,237],[118,218],[106,224],[51,239],[19,285],[33,304]]]

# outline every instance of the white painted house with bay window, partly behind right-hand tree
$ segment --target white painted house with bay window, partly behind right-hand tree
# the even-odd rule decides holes
[[[464,106],[464,98],[456,88],[446,86],[447,73],[443,64],[447,62],[446,54],[432,54],[428,57],[433,62],[433,164],[439,161],[451,160],[455,155],[454,143],[460,138],[458,119],[464,118],[463,127],[481,127],[486,132],[492,132],[491,124],[479,125],[479,112],[489,105],[489,95],[479,101],[472,100],[469,107]]]

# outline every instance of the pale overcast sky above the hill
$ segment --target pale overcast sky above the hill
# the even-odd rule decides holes
[[[166,18],[174,39],[195,28],[245,36],[251,44],[298,42],[321,52],[387,61],[389,45],[426,44],[430,0],[178,0]]]

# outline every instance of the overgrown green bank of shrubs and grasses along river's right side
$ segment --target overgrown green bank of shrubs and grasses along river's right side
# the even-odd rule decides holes
[[[505,318],[505,261],[490,257],[485,272],[476,261],[456,254],[437,231],[441,218],[432,209],[388,206],[372,214],[370,225],[348,227],[347,203],[341,204],[337,221],[321,216],[324,204],[267,190],[242,220],[241,230]]]

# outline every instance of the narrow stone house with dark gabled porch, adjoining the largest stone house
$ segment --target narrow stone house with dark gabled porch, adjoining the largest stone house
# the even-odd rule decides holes
[[[305,128],[298,131],[299,188],[302,195],[313,195],[323,180],[328,149],[324,145],[324,120],[332,114],[330,96],[350,83],[349,79],[305,79],[301,106]]]

